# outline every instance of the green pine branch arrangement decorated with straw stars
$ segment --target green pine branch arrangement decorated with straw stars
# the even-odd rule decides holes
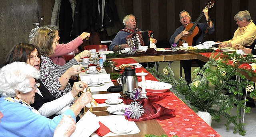
[[[246,113],[250,113],[250,108],[244,106],[244,102],[248,101],[236,99],[236,95],[243,95],[242,89],[250,91],[250,97],[256,95],[253,82],[244,80],[243,74],[248,76],[256,76],[252,69],[248,70],[241,67],[243,63],[256,63],[252,55],[240,57],[234,53],[223,53],[222,55],[214,55],[210,60],[200,69],[196,68],[192,73],[194,80],[187,85],[184,78],[179,80],[174,78],[174,72],[171,68],[165,67],[163,72],[157,72],[155,68],[147,68],[151,74],[158,74],[159,81],[172,84],[171,91],[181,98],[194,112],[202,111],[208,112],[212,119],[217,122],[221,121],[221,116],[226,117],[226,129],[229,129],[230,123],[234,124],[233,132],[239,131],[240,135],[245,135],[246,131],[243,129],[245,123],[239,123],[241,119],[240,108],[245,109]],[[170,76],[168,76],[168,74]],[[242,81],[232,79],[233,77],[240,77]],[[214,86],[209,86],[211,83]],[[222,93],[223,89],[227,89],[231,93],[230,96]],[[237,114],[230,114],[230,110],[237,105]]]

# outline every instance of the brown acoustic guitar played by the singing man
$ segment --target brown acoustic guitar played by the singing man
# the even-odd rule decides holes
[[[214,0],[211,0],[205,8],[212,8],[214,6]],[[182,46],[182,43],[188,43],[189,46],[192,45],[193,38],[197,35],[199,28],[196,26],[198,22],[201,20],[202,16],[204,15],[204,12],[201,12],[200,16],[196,19],[194,23],[188,23],[185,27],[185,29],[188,31],[187,36],[183,36],[179,40],[178,47]]]

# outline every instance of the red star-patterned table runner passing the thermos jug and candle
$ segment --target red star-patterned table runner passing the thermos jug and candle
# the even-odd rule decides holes
[[[116,66],[128,63],[136,63],[134,59],[112,59],[117,63]],[[135,72],[147,72],[143,67],[136,68]],[[145,80],[157,79],[150,73],[145,76]],[[141,81],[141,77],[138,77],[138,81]],[[154,94],[154,93],[147,93]],[[178,135],[179,137],[221,137],[212,127],[205,123],[196,113],[191,110],[184,102],[182,102],[176,95],[168,91],[161,94],[168,94],[164,100],[156,103],[176,111],[176,117],[158,120],[158,123],[164,129],[168,136]]]

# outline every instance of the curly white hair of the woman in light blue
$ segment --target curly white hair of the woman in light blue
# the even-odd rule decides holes
[[[25,62],[14,62],[0,70],[0,95],[4,97],[16,95],[17,91],[32,91],[29,78],[40,78],[40,72]]]

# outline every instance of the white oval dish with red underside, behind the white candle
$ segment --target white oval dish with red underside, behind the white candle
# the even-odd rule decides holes
[[[138,83],[139,87],[142,87],[142,82]],[[172,85],[165,82],[159,82],[159,81],[152,81],[152,80],[145,80],[145,88],[147,92],[151,93],[164,93],[170,88],[172,88]]]

